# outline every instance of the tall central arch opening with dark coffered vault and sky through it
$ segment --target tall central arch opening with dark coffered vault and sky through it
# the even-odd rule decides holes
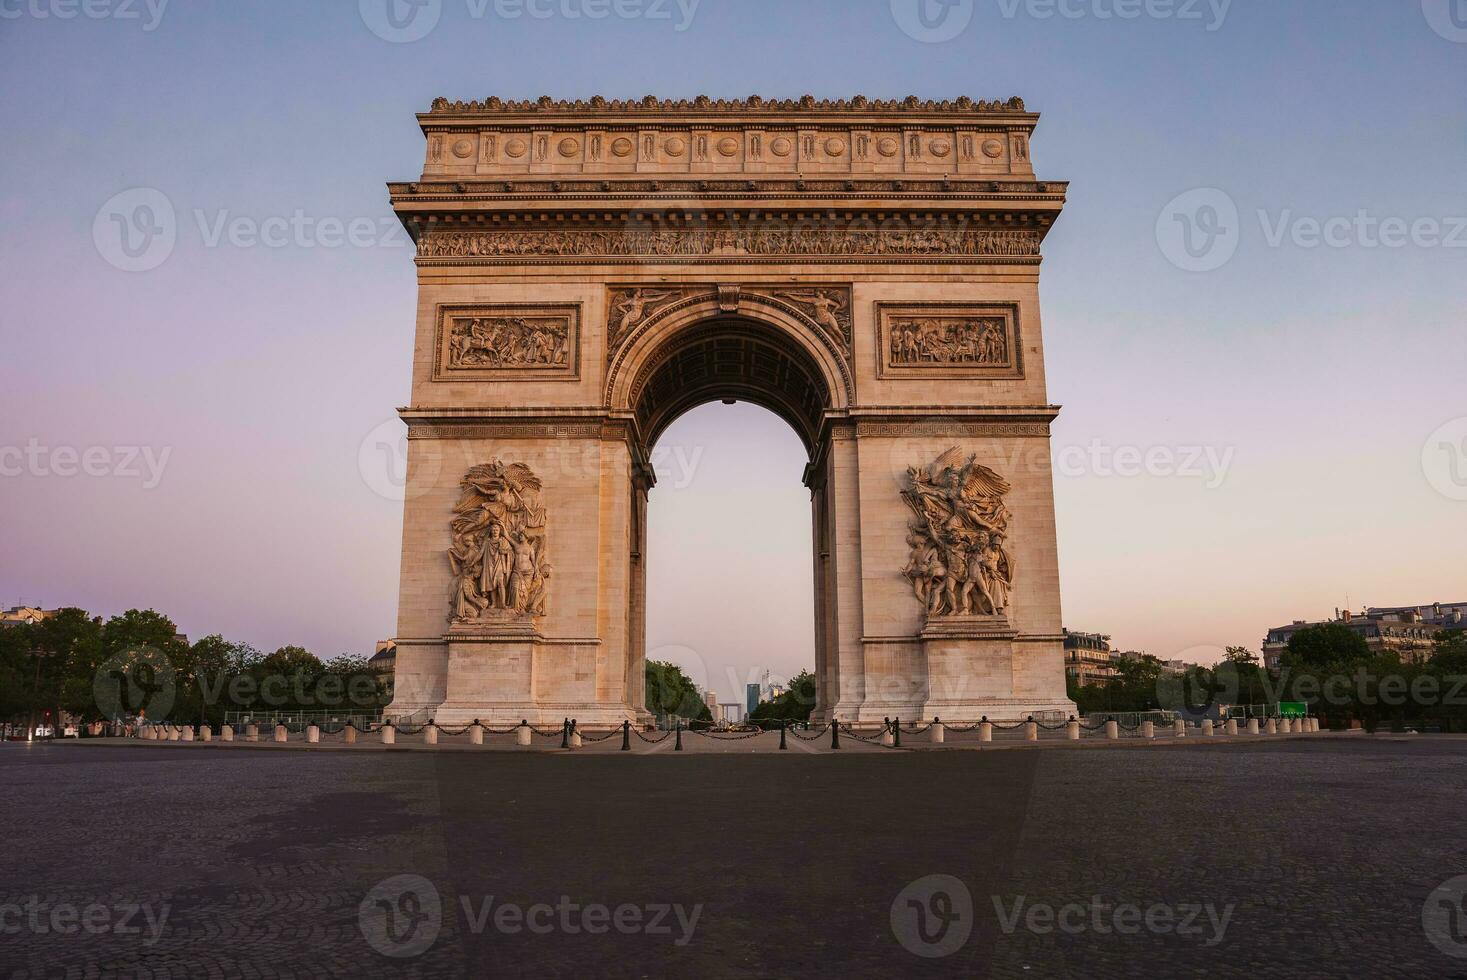
[[[714,707],[714,719],[747,716],[750,685],[772,698],[802,672],[819,675],[820,511],[804,481],[829,408],[798,340],[736,317],[678,332],[632,384],[656,474],[641,522],[645,660],[736,706]]]

